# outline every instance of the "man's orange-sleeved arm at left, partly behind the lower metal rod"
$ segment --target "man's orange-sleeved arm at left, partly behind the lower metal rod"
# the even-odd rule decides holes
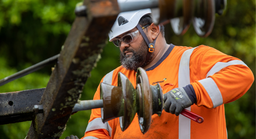
[[[103,79],[101,80],[103,82]],[[100,99],[100,86],[98,86],[97,91],[94,95],[93,100]],[[92,109],[91,117],[87,125],[84,139],[109,139],[111,138],[111,120],[103,123],[101,119],[101,108]],[[109,133],[110,131],[110,133]]]

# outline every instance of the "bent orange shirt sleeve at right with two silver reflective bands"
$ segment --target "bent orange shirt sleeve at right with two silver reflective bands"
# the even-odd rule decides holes
[[[192,82],[191,85],[199,107],[215,108],[243,96],[251,87],[254,76],[243,61],[209,48],[197,50],[195,56],[201,58],[194,63],[199,65],[195,66],[198,72],[192,74],[197,75],[200,80]]]

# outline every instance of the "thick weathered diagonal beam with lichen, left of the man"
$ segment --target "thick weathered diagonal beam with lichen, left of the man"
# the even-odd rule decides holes
[[[90,71],[101,58],[119,14],[116,0],[85,0],[87,17],[75,18],[39,105],[27,139],[61,137]]]

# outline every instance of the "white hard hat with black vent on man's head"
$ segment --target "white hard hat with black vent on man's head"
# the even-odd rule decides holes
[[[121,12],[117,16],[117,20],[115,21],[113,27],[111,28],[111,31],[109,32],[109,41],[135,28],[142,16],[150,13],[151,9]]]

